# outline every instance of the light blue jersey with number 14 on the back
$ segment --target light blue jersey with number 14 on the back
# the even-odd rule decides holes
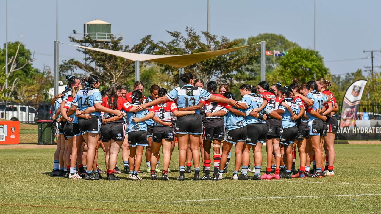
[[[72,105],[78,106],[80,111],[87,109],[88,107],[94,106],[95,103],[102,103],[102,95],[98,88],[87,87],[80,89],[75,95]],[[90,115],[95,115],[101,117],[101,112],[92,112]]]

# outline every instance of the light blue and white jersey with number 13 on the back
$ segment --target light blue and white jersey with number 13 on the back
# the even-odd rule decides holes
[[[170,101],[177,98],[177,105],[179,108],[190,107],[199,103],[200,99],[209,99],[211,94],[202,88],[192,86],[191,84],[178,87],[165,95]],[[199,114],[200,109],[195,110]]]

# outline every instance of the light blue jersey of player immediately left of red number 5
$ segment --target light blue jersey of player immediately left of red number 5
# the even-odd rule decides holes
[[[261,105],[263,104],[263,98],[261,98],[260,96],[254,94],[254,93],[250,93],[250,94],[243,95],[242,102],[244,102],[247,105],[247,109],[245,110],[245,114],[246,114],[245,120],[246,120],[247,124],[266,123],[265,120],[261,120],[261,119],[258,119],[258,118],[255,118],[255,117],[249,115],[251,113],[252,109],[256,109],[256,108],[261,107]],[[269,114],[272,111],[273,111],[273,109],[271,107],[269,107],[269,105],[266,105],[266,107],[264,107],[258,113],[260,113],[261,115],[264,115],[264,114]]]

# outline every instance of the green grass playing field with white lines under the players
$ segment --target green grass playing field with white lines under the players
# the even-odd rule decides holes
[[[176,181],[69,180],[50,177],[53,149],[0,150],[0,211],[3,213],[380,213],[381,145],[336,145],[335,177]],[[103,152],[99,165],[104,169]],[[252,159],[251,159],[252,160]],[[143,158],[145,161],[145,158]],[[297,160],[298,161],[298,160]],[[251,161],[252,162],[252,161]],[[122,166],[121,158],[118,163]],[[160,162],[161,164],[161,162]],[[146,169],[142,164],[142,169]],[[161,166],[159,167],[162,168]],[[266,169],[264,165],[262,169]],[[249,176],[252,176],[250,173]],[[201,174],[202,176],[202,174]]]

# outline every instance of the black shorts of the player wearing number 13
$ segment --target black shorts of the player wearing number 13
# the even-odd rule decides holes
[[[202,134],[200,114],[185,115],[176,118],[176,134]]]

